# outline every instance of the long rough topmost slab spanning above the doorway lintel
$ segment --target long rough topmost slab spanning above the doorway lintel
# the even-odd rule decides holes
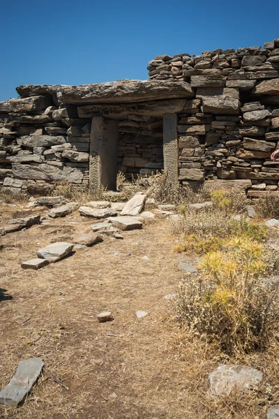
[[[25,84],[17,87],[20,96],[57,94],[62,103],[123,103],[166,98],[193,97],[190,84],[178,80],[117,80],[81,86]]]

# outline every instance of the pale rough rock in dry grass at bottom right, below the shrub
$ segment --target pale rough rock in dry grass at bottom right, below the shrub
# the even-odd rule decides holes
[[[261,371],[245,365],[219,365],[209,374],[211,397],[229,395],[232,390],[252,389],[262,377]]]

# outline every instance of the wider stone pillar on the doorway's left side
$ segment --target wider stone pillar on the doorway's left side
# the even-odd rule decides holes
[[[90,135],[89,185],[116,190],[118,121],[93,117]]]

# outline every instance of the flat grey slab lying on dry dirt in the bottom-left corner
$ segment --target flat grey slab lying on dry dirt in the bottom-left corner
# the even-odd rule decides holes
[[[38,380],[44,363],[40,358],[20,361],[10,383],[0,391],[0,404],[16,407],[24,401]]]

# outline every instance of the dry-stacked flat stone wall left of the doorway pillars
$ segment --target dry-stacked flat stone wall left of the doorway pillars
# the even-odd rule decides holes
[[[6,193],[49,193],[68,180],[89,184],[90,119],[55,96],[31,96],[0,103],[0,186]]]

